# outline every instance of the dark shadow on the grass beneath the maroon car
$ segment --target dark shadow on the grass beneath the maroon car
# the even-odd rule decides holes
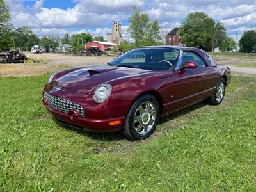
[[[162,118],[160,118],[158,126],[161,126],[161,124],[164,124],[164,123],[169,122],[171,120],[175,120],[175,118],[179,118],[179,117],[184,116],[188,113],[191,113],[192,111],[195,111],[196,109],[203,108],[206,105],[207,104],[205,104],[205,102],[199,102],[197,104],[194,104],[193,106],[189,106],[187,108],[180,109],[179,111],[175,111],[173,113],[170,113],[169,115],[163,116]],[[99,141],[122,141],[122,140],[127,140],[127,138],[125,138],[122,135],[121,131],[104,132],[104,133],[89,132],[89,131],[85,131],[83,129],[78,129],[76,127],[73,127],[73,126],[70,126],[70,125],[67,125],[67,124],[63,124],[63,123],[59,122],[58,120],[56,120],[55,118],[52,118],[52,120],[54,120],[54,122],[56,122],[56,124],[58,124],[61,128],[67,129],[69,131],[74,131],[77,134],[81,134],[83,136],[88,136],[92,140],[99,140]],[[131,141],[131,140],[129,140],[129,141]]]

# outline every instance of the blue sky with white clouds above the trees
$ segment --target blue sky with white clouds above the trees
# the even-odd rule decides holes
[[[256,29],[256,0],[6,0],[15,28],[29,26],[38,36],[65,33],[111,33],[114,20],[122,23],[122,36],[128,33],[132,6],[157,19],[161,35],[179,27],[190,12],[205,12],[223,22],[228,36],[237,40],[244,31]]]

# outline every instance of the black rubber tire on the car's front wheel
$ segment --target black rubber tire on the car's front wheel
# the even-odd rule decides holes
[[[152,111],[154,110],[154,115],[156,115],[156,117],[154,118],[154,123],[152,123],[152,125],[149,125],[150,130],[148,130],[148,132],[146,132],[145,134],[139,134],[135,128],[136,123],[134,123],[134,118],[136,113],[138,113],[138,108],[140,106],[143,106],[143,104],[146,105],[147,103],[150,104],[150,108],[151,108],[150,110]],[[154,105],[151,105],[151,104],[154,104]],[[152,115],[152,117],[154,115]],[[151,121],[152,117],[149,115],[148,120]],[[149,94],[141,95],[141,97],[139,97],[129,109],[129,112],[125,119],[124,129],[122,129],[122,134],[124,134],[124,136],[129,140],[141,140],[141,139],[148,138],[148,136],[150,136],[150,134],[152,134],[156,130],[156,125],[158,124],[158,121],[159,121],[159,103],[157,102],[156,98],[153,95],[149,95]],[[143,120],[141,118],[141,122],[139,124],[142,124],[142,122]],[[148,122],[148,124],[150,124],[150,122]],[[144,126],[148,127],[148,125],[144,125]]]

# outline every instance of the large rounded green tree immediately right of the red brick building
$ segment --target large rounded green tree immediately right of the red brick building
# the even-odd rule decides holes
[[[204,12],[189,13],[180,28],[182,42],[191,47],[211,50],[214,20]]]

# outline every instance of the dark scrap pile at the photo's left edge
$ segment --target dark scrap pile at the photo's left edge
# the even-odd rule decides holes
[[[0,53],[0,63],[24,63],[27,59],[26,55],[19,50]]]

